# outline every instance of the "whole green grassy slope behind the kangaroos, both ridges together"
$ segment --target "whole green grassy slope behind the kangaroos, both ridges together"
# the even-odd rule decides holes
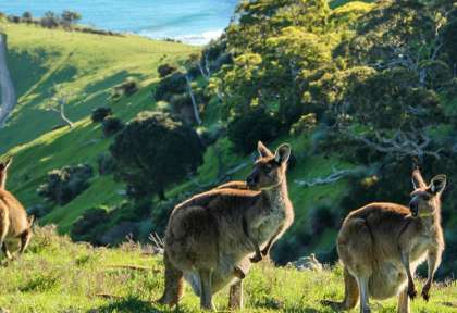
[[[9,37],[9,66],[18,104],[0,132],[0,151],[10,150],[8,154],[15,156],[9,186],[27,208],[42,202],[36,188],[47,172],[81,162],[94,165],[97,155],[107,150],[111,140],[103,138],[99,124],[90,122],[91,109],[108,105],[124,122],[139,111],[152,110],[150,95],[158,65],[178,63],[198,50],[136,36],[97,36],[12,24],[2,27]],[[131,76],[140,82],[140,90],[116,102],[110,100],[112,87]],[[74,129],[52,130],[61,124],[59,115],[44,107],[53,84],[75,90],[67,108],[69,117],[77,121]],[[77,201],[57,209],[44,222],[58,222],[69,230],[82,211],[119,201],[120,189],[112,177],[97,177]]]

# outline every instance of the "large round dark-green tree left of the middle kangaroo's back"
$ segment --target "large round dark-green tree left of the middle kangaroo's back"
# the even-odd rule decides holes
[[[145,111],[119,133],[110,147],[115,176],[127,184],[136,200],[157,195],[195,171],[203,148],[197,133],[171,114]]]

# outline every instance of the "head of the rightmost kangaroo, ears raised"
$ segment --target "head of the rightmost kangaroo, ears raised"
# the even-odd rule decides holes
[[[431,216],[441,209],[441,195],[446,188],[446,175],[433,177],[429,185],[417,168],[412,172],[411,201],[409,208],[412,216]]]

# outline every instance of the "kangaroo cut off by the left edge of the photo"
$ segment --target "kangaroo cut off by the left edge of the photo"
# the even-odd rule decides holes
[[[12,260],[8,241],[20,240],[18,252],[22,254],[30,242],[34,217],[27,217],[24,206],[5,190],[8,168],[12,159],[0,164],[0,246],[4,255]]]

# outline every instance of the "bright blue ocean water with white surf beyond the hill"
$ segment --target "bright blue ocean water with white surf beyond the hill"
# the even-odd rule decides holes
[[[238,0],[0,0],[0,11],[42,16],[47,11],[74,10],[82,24],[134,33],[156,39],[173,38],[205,45],[228,25]]]

